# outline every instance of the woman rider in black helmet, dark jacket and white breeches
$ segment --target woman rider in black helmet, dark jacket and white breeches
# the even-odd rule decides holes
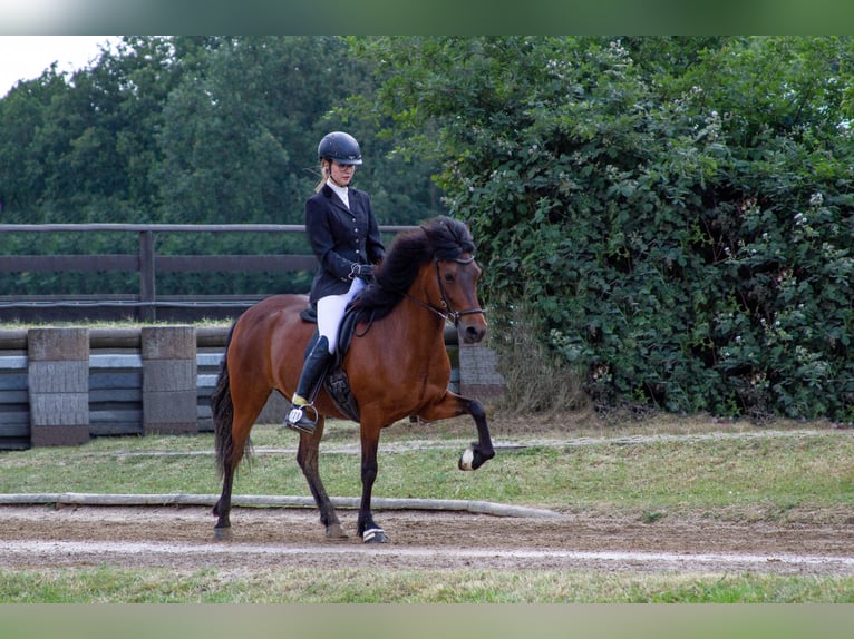
[[[333,131],[320,140],[318,158],[322,178],[305,201],[305,232],[318,258],[309,299],[317,304],[319,338],[305,356],[297,392],[284,425],[313,433],[307,414],[309,396],[338,345],[338,330],[347,305],[373,275],[385,255],[370,197],[350,187],[361,150],[356,139]]]

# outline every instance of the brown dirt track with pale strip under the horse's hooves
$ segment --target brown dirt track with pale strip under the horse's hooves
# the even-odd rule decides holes
[[[231,571],[312,567],[417,570],[854,574],[851,512],[800,512],[784,523],[589,512],[510,518],[375,511],[391,542],[326,541],[312,509],[240,508],[215,540],[202,507],[0,507],[0,568],[161,567]]]

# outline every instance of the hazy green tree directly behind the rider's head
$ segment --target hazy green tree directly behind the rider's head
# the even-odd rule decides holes
[[[317,145],[334,129],[353,134],[366,163],[356,186],[368,190],[382,224],[407,224],[439,210],[433,164],[407,161],[377,136],[372,117],[346,108],[372,91],[372,68],[336,37],[175,40],[204,51],[172,91],[158,140],[157,179],[168,219],[301,224],[319,178]],[[389,155],[390,154],[390,155]]]

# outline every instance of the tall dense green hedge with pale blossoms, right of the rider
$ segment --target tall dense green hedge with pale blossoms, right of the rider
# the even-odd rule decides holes
[[[421,53],[380,101],[438,122],[494,325],[537,332],[603,406],[854,416],[850,39]],[[513,325],[522,305],[536,325]]]

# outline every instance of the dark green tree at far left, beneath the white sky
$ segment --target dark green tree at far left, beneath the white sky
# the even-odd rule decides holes
[[[10,213],[30,222],[149,218],[171,55],[164,38],[124,38],[91,68],[50,69],[1,100],[0,188]]]

